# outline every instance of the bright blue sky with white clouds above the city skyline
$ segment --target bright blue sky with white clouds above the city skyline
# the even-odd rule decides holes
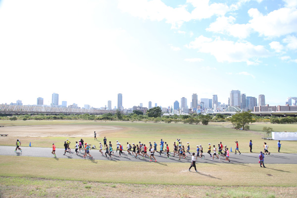
[[[2,0],[0,103],[296,97],[296,0]]]

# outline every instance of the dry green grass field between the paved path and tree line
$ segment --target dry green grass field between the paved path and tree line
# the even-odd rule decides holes
[[[108,141],[115,143],[118,140],[122,144],[135,143],[139,141],[148,144],[148,142],[156,141],[160,142],[163,139],[169,143],[172,148],[173,142],[176,138],[182,140],[185,145],[189,142],[191,145],[191,151],[195,150],[196,145],[202,145],[204,151],[208,143],[211,145],[217,145],[222,142],[223,145],[227,145],[229,148],[235,148],[234,140],[239,141],[240,150],[242,152],[248,152],[249,140],[253,141],[253,150],[259,152],[263,150],[263,142],[261,139],[264,137],[264,133],[261,131],[263,126],[270,126],[276,128],[278,131],[297,131],[296,124],[270,124],[270,123],[253,123],[250,125],[250,131],[241,131],[232,129],[231,123],[210,123],[207,126],[204,125],[189,125],[189,124],[165,124],[165,123],[144,123],[144,122],[95,122],[95,121],[78,121],[78,120],[18,120],[8,121],[0,120],[0,125],[4,126],[30,126],[30,125],[90,125],[90,126],[115,126],[121,128],[120,131],[102,132],[98,135],[98,140],[103,141],[103,137],[106,136]],[[1,129],[0,129],[1,130]],[[92,132],[90,132],[92,133]],[[14,146],[15,139],[18,137],[0,137],[0,145]],[[82,137],[85,142],[92,145],[99,145],[99,141],[94,141],[93,138]],[[33,147],[50,147],[51,143],[55,143],[57,148],[63,147],[63,142],[69,139],[72,143],[78,141],[78,138],[70,137],[21,137],[22,146]],[[269,150],[271,152],[277,152],[277,141],[267,141]],[[282,152],[296,152],[296,141],[282,141]]]

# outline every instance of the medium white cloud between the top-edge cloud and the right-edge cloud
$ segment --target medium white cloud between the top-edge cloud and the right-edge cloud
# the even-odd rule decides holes
[[[236,19],[233,16],[221,16],[206,28],[207,31],[228,34],[238,38],[247,38],[250,34],[250,24],[234,24]]]

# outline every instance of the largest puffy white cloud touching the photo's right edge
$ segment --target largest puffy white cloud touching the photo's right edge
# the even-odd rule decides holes
[[[256,8],[247,12],[252,18],[250,27],[261,36],[280,37],[297,32],[297,9],[295,7],[283,7],[263,15]]]

